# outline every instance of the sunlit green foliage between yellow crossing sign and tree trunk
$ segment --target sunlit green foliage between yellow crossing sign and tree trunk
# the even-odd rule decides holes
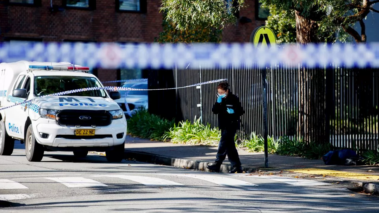
[[[266,26],[276,33],[276,42],[278,44],[296,42],[295,11],[278,9],[275,5],[265,7],[270,11]]]

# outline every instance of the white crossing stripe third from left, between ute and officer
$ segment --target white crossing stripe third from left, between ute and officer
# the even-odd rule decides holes
[[[145,177],[136,175],[92,175],[91,177],[117,177],[121,179],[132,180],[146,186],[154,185],[183,185],[182,183],[173,182],[171,180],[164,180],[156,177]]]

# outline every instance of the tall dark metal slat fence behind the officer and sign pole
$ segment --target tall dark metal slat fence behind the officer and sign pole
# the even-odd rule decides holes
[[[338,147],[377,149],[378,69],[307,69],[267,67],[268,134],[299,136],[305,141],[329,141]],[[241,134],[263,134],[262,70],[257,66],[229,69],[174,69],[176,87],[227,78],[241,100]],[[177,89],[176,118],[216,127],[211,113],[217,84]]]

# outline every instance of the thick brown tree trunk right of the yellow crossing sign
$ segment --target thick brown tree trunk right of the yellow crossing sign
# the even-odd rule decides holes
[[[318,24],[295,11],[296,39],[299,44],[317,43]],[[307,143],[327,140],[325,128],[325,72],[299,66],[298,139]]]

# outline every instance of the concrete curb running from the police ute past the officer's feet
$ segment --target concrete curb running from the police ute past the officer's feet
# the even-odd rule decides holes
[[[207,169],[208,163],[213,163],[213,162],[168,157],[168,156],[156,155],[156,154],[147,153],[147,152],[128,151],[126,149],[125,149],[125,157],[126,159],[134,158],[137,161],[142,161],[142,162],[147,162],[147,163],[162,164],[166,166],[175,166],[175,167],[180,167],[180,168],[195,169],[195,170],[207,171],[207,172],[210,172],[210,170]],[[222,164],[220,168],[220,173],[229,173],[231,169],[232,169],[232,166]],[[250,173],[256,170],[257,170],[256,168],[243,168],[243,171],[246,173]]]

